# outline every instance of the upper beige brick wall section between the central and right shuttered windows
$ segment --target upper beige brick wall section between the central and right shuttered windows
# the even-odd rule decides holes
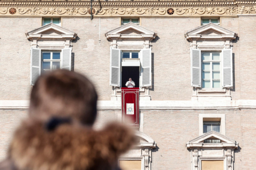
[[[158,35],[151,43],[154,54],[151,99],[191,100],[190,43],[184,34],[200,26],[200,18],[141,18],[141,26]]]

